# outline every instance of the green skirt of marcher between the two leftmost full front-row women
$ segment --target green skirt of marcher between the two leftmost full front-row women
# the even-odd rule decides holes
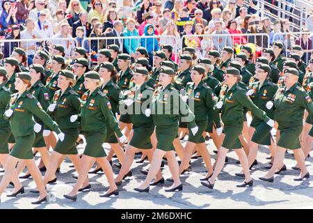
[[[54,151],[61,153],[63,155],[76,155],[78,154],[76,148],[76,141],[79,137],[79,129],[78,128],[70,128],[67,130],[62,130],[65,134],[64,140],[56,143],[56,147]]]

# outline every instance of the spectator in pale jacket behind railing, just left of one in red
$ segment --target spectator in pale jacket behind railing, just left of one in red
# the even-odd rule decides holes
[[[212,33],[213,35],[216,35],[212,37],[214,48],[220,52],[223,47],[232,47],[232,39],[230,36],[218,36],[218,34],[230,34],[228,31],[223,30],[223,21],[216,20],[214,24],[215,31]]]

